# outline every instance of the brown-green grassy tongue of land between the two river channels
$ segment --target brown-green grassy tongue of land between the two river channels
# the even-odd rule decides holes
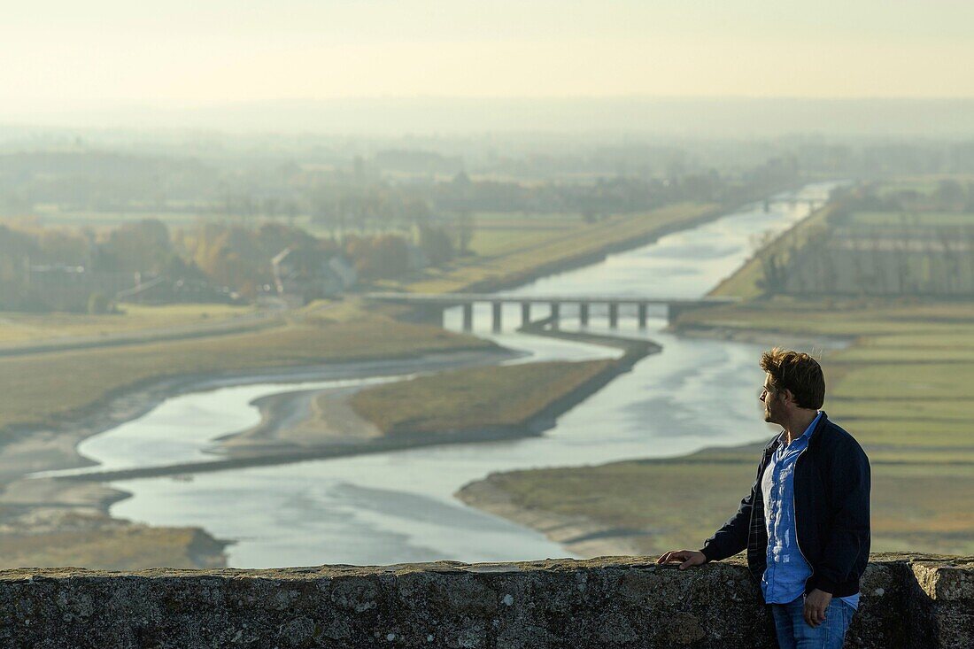
[[[107,468],[62,481],[179,476],[309,459],[385,453],[421,446],[522,439],[543,434],[557,418],[635,363],[660,351],[645,339],[531,327],[535,335],[619,348],[617,359],[499,365],[510,352],[471,357],[445,371],[378,386],[338,387],[271,395],[254,401],[261,421],[216,439],[211,461]],[[457,355],[453,355],[456,357]],[[479,366],[484,365],[486,366]],[[429,373],[434,367],[421,370]],[[378,375],[373,370],[372,376]],[[499,408],[498,403],[505,406]]]

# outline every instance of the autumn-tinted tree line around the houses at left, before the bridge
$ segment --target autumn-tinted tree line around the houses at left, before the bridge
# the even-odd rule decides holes
[[[443,265],[465,245],[454,230],[427,223],[413,233],[332,239],[278,222],[251,228],[209,221],[170,232],[158,219],[143,219],[96,232],[20,221],[0,225],[0,309],[47,310],[45,295],[31,282],[39,272],[165,276],[227,286],[253,298],[273,290],[272,260],[285,248],[312,252],[322,262],[341,256],[368,282]]]

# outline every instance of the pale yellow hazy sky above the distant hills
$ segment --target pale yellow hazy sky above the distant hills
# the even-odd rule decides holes
[[[972,0],[34,0],[0,117],[348,96],[974,96]]]

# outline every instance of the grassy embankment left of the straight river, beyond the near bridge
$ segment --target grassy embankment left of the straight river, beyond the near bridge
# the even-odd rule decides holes
[[[523,230],[523,223],[516,219],[509,222],[509,230],[498,230],[481,240],[484,250],[497,252],[496,256],[473,256],[460,260],[450,269],[430,270],[420,280],[410,282],[409,290],[415,292],[448,292],[482,285],[482,283],[513,284],[533,277],[537,272],[554,268],[557,264],[573,258],[618,246],[628,241],[648,237],[689,225],[716,209],[712,204],[683,203],[667,206],[639,214],[626,214],[607,217],[596,223],[580,224],[573,227],[565,224],[565,230],[527,230],[534,237],[530,245],[519,248],[502,249],[505,241],[516,242]],[[549,221],[564,223],[564,217],[551,217]],[[514,227],[516,226],[516,227]],[[480,224],[478,223],[478,228]],[[473,247],[476,249],[476,234]]]

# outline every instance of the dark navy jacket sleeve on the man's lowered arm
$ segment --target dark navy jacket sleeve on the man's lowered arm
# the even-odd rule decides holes
[[[846,445],[833,458],[829,479],[836,499],[832,535],[825,542],[822,559],[814,566],[809,592],[835,592],[836,584],[848,581],[862,553],[869,552],[869,459],[858,443]]]

